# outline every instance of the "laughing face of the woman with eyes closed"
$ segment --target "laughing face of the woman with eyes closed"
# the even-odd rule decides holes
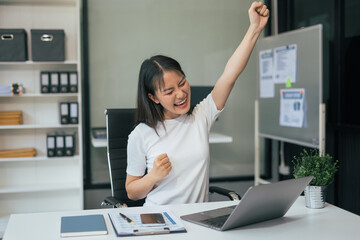
[[[164,108],[164,119],[175,119],[190,110],[190,85],[178,71],[164,71],[164,84],[148,97]]]

